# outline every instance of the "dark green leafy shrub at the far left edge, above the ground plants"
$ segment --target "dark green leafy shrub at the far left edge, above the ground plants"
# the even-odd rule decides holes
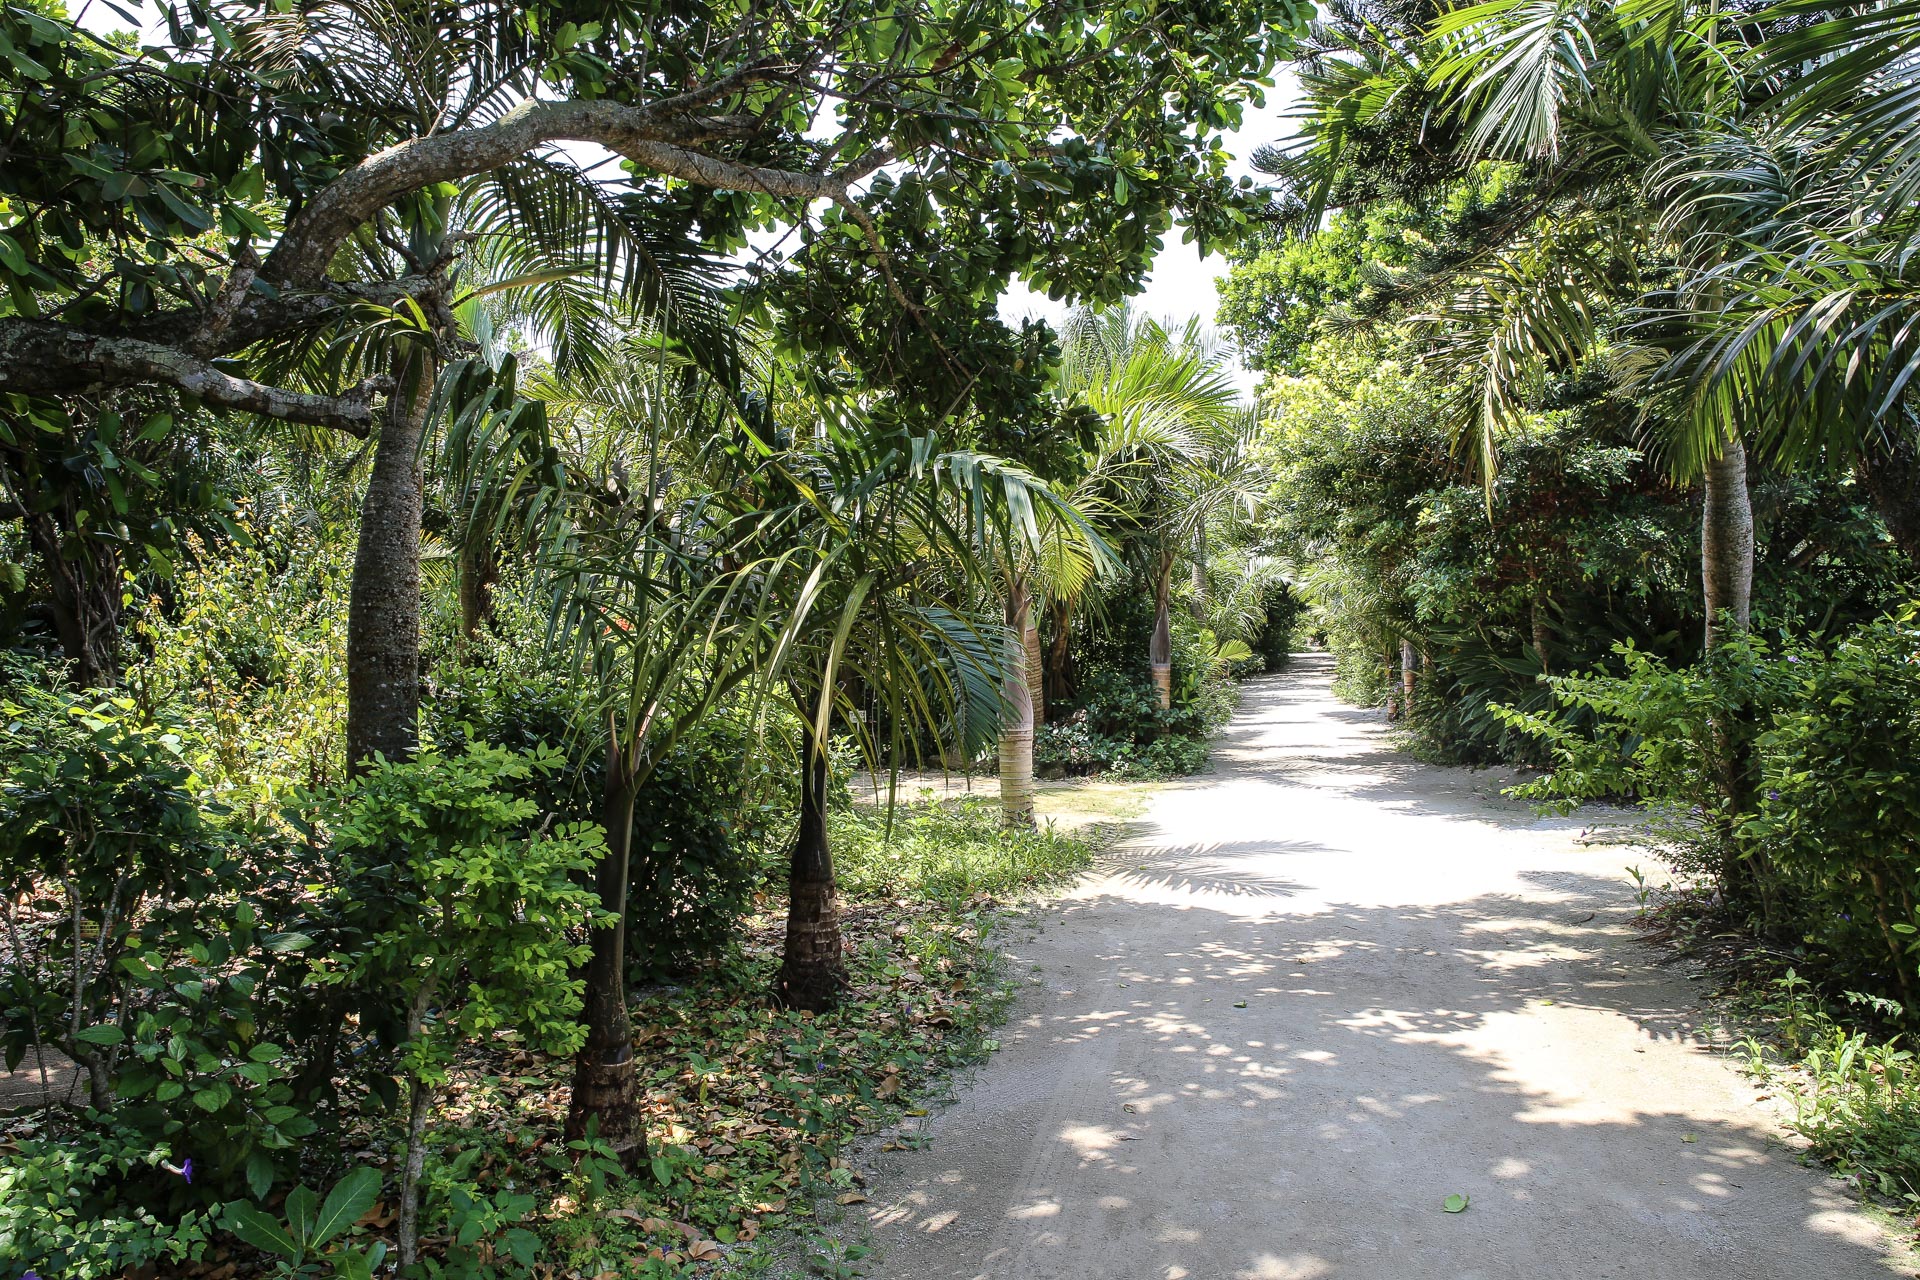
[[[275,971],[305,944],[255,906],[261,865],[282,860],[217,825],[230,814],[205,802],[182,735],[132,702],[23,685],[6,714],[8,1067],[56,1044],[100,1115],[198,1155],[190,1192],[148,1178],[152,1207],[242,1182],[263,1196],[313,1132],[263,1034]]]

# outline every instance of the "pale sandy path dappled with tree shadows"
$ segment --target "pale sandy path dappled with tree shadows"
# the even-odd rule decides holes
[[[1914,1274],[1707,1048],[1634,850],[1329,685],[1250,683],[1215,771],[1014,944],[1006,1048],[868,1155],[872,1274]]]

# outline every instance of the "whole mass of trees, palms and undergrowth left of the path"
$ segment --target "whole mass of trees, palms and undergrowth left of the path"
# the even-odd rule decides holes
[[[1121,299],[1304,6],[106,8],[0,6],[0,1267],[760,1267],[1085,862],[1037,731],[1286,631]]]

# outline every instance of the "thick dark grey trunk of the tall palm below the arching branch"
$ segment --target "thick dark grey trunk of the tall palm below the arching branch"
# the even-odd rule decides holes
[[[348,599],[348,768],[407,758],[420,712],[420,434],[438,363],[422,347],[380,422]]]

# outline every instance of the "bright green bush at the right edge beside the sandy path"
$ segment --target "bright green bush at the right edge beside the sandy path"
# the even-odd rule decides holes
[[[1555,679],[1557,714],[1507,712],[1553,754],[1521,794],[1638,800],[1678,865],[1824,986],[1920,1013],[1920,628],[1620,660],[1624,676]]]

